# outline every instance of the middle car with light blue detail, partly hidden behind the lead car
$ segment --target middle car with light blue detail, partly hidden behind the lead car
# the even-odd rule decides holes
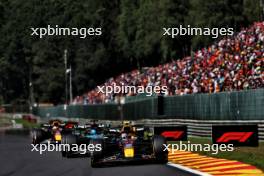
[[[79,125],[71,133],[62,135],[62,157],[90,156],[90,151],[87,150],[90,140],[102,138],[104,138],[104,128],[96,124]]]

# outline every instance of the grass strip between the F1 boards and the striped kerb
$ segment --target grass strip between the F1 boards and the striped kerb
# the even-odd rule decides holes
[[[192,144],[212,144],[209,138],[189,138]],[[176,143],[176,142],[175,142]],[[221,152],[212,154],[212,152],[196,152],[202,155],[207,155],[215,158],[225,158],[237,160],[247,164],[256,166],[264,171],[264,142],[259,143],[258,147],[235,147],[234,151]]]

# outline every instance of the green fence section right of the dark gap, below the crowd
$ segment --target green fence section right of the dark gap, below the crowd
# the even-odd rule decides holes
[[[264,89],[164,98],[166,118],[200,120],[264,119]]]

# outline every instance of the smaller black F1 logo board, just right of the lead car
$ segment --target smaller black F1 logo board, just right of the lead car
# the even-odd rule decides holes
[[[154,134],[162,135],[168,141],[186,141],[187,126],[154,127]]]

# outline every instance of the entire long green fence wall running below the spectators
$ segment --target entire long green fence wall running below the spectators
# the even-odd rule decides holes
[[[264,120],[264,89],[215,94],[147,97],[125,104],[39,107],[34,114],[98,120]]]

